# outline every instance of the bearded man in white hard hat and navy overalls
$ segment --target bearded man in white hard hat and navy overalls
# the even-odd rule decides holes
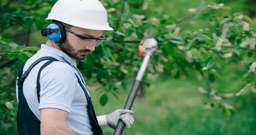
[[[48,18],[53,20],[41,31],[46,44],[30,57],[18,73],[17,128],[20,135],[98,135],[101,127],[115,129],[121,119],[124,130],[134,120],[131,110],[115,110],[95,116],[91,98],[75,60],[104,40],[107,11],[98,0],[59,0]]]

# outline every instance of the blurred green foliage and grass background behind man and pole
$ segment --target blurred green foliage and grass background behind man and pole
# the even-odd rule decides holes
[[[15,81],[57,0],[0,1],[0,134],[16,135]],[[77,66],[96,115],[124,107],[151,29],[151,59],[126,135],[255,135],[254,0],[100,0],[113,32]],[[129,41],[136,42],[130,43]],[[113,134],[109,127],[104,134]]]

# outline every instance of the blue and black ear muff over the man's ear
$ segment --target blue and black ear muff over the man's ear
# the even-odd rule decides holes
[[[41,30],[42,36],[47,36],[48,39],[55,43],[62,43],[66,38],[64,26],[58,22],[51,23],[46,29]]]

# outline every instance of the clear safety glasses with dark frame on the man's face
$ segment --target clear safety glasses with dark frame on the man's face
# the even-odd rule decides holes
[[[78,38],[81,38],[82,40],[84,40],[85,44],[90,44],[89,46],[92,46],[93,44],[96,44],[95,47],[99,46],[100,44],[102,44],[106,38],[104,36],[101,36],[100,38],[89,38],[89,37],[84,37],[81,35],[76,34],[75,32],[72,32],[71,30],[65,28],[68,32],[72,33],[73,35],[75,35]]]

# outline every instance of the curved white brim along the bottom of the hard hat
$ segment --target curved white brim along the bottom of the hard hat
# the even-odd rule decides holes
[[[52,19],[60,21],[60,22],[67,23],[67,24],[72,25],[72,26],[84,28],[84,29],[104,30],[104,31],[112,31],[112,30],[114,30],[113,28],[111,28],[109,26],[108,23],[106,23],[104,25],[102,25],[102,24],[101,25],[91,24],[91,23],[71,20],[71,19],[68,19],[68,18],[64,18],[62,16],[58,16],[58,15],[53,14],[53,13],[49,13],[48,17],[46,18],[46,20],[52,20]]]

